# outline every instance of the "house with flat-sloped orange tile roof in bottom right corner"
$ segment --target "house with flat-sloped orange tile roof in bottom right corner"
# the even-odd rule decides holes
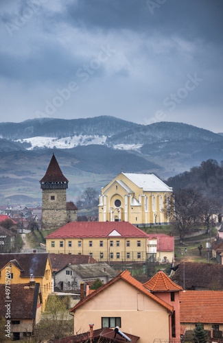
[[[222,339],[222,308],[222,291],[180,292],[180,324],[187,328],[187,338],[199,321],[211,338]]]

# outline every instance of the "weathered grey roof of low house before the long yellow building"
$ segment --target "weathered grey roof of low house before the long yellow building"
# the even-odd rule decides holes
[[[82,279],[95,278],[100,276],[108,276],[111,279],[117,276],[117,272],[107,263],[91,263],[69,265]],[[104,271],[105,270],[105,271]]]

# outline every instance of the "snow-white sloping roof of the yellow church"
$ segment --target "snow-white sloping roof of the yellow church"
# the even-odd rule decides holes
[[[121,173],[132,181],[143,191],[172,191],[172,187],[167,186],[161,179],[154,174],[134,174]]]

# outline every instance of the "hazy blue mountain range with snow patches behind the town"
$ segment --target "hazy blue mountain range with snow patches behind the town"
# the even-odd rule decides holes
[[[0,203],[15,196],[40,202],[38,180],[53,151],[73,199],[86,187],[99,192],[121,170],[166,179],[209,158],[220,162],[223,136],[185,123],[143,126],[108,116],[0,123]]]

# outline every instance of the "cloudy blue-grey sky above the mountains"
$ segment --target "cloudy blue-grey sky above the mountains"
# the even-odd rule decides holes
[[[222,127],[222,0],[0,2],[1,121]]]

